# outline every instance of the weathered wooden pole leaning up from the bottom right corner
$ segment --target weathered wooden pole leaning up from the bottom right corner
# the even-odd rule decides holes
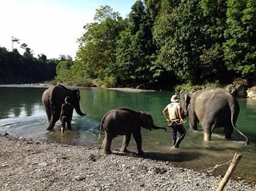
[[[234,171],[235,167],[239,163],[239,161],[242,158],[242,156],[243,155],[241,155],[241,154],[235,153],[234,158],[233,158],[231,164],[229,165],[229,168],[227,169],[227,172],[224,175],[223,180],[221,180],[220,184],[218,184],[218,187],[217,187],[216,191],[222,191],[224,189],[224,187],[227,184],[227,181],[229,181],[229,178],[230,178],[232,172]]]

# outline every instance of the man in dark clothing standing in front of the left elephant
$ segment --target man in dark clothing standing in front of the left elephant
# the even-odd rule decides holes
[[[71,129],[71,120],[73,116],[73,105],[70,103],[70,97],[65,97],[65,103],[61,106],[61,116],[59,120],[61,120],[61,134],[64,133],[65,125],[67,123],[67,128]]]

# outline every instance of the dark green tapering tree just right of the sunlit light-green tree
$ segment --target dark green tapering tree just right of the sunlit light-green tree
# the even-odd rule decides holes
[[[117,69],[121,84],[146,85],[154,83],[155,51],[152,39],[153,21],[142,1],[132,5],[128,27],[118,40]]]

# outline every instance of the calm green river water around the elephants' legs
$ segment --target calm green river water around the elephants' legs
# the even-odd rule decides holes
[[[66,131],[61,136],[60,122],[55,125],[53,132],[46,131],[47,117],[41,102],[45,88],[5,88],[0,87],[0,131],[26,138],[47,139],[67,144],[84,144],[100,146],[104,138],[101,134],[98,140],[99,123],[109,109],[129,107],[138,111],[149,111],[155,125],[166,126],[162,111],[169,103],[172,92],[122,92],[101,88],[81,88],[81,110],[88,114],[79,116],[74,112],[72,131]],[[209,167],[223,164],[234,157],[235,152],[243,154],[232,177],[243,178],[256,183],[256,100],[238,99],[240,115],[237,127],[248,136],[251,144],[244,145],[244,138],[234,131],[231,140],[224,140],[223,129],[217,129],[212,135],[212,141],[203,141],[203,132],[189,129],[189,123],[184,126],[186,137],[180,149],[170,149],[172,140],[170,129],[148,131],[142,129],[143,150],[146,155],[158,160],[171,161],[178,166],[206,172]],[[188,120],[188,117],[186,118]],[[122,137],[113,140],[112,147],[121,146]],[[133,140],[128,149],[136,152]],[[224,174],[229,164],[218,167],[214,175]]]

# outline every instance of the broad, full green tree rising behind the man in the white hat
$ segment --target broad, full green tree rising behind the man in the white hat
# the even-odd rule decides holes
[[[198,0],[163,1],[154,37],[160,48],[157,62],[183,82],[200,83],[200,55],[207,39]]]

